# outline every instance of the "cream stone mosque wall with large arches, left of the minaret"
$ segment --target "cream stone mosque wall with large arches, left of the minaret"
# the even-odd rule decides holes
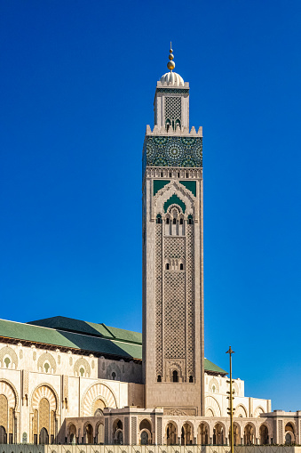
[[[33,441],[33,401],[42,398],[44,392],[55,401],[57,433],[66,417],[91,417],[97,398],[114,408],[128,406],[129,398],[131,404],[144,404],[143,385],[136,384],[141,382],[141,366],[133,361],[81,356],[59,348],[47,351],[21,343],[0,344],[0,358],[0,393],[12,389],[17,441],[23,433]],[[112,378],[113,371],[118,380]]]

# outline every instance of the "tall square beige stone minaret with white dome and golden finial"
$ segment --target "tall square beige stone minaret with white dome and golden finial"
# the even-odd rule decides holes
[[[189,132],[189,84],[157,82],[143,147],[143,376],[147,408],[204,415],[202,127]]]

